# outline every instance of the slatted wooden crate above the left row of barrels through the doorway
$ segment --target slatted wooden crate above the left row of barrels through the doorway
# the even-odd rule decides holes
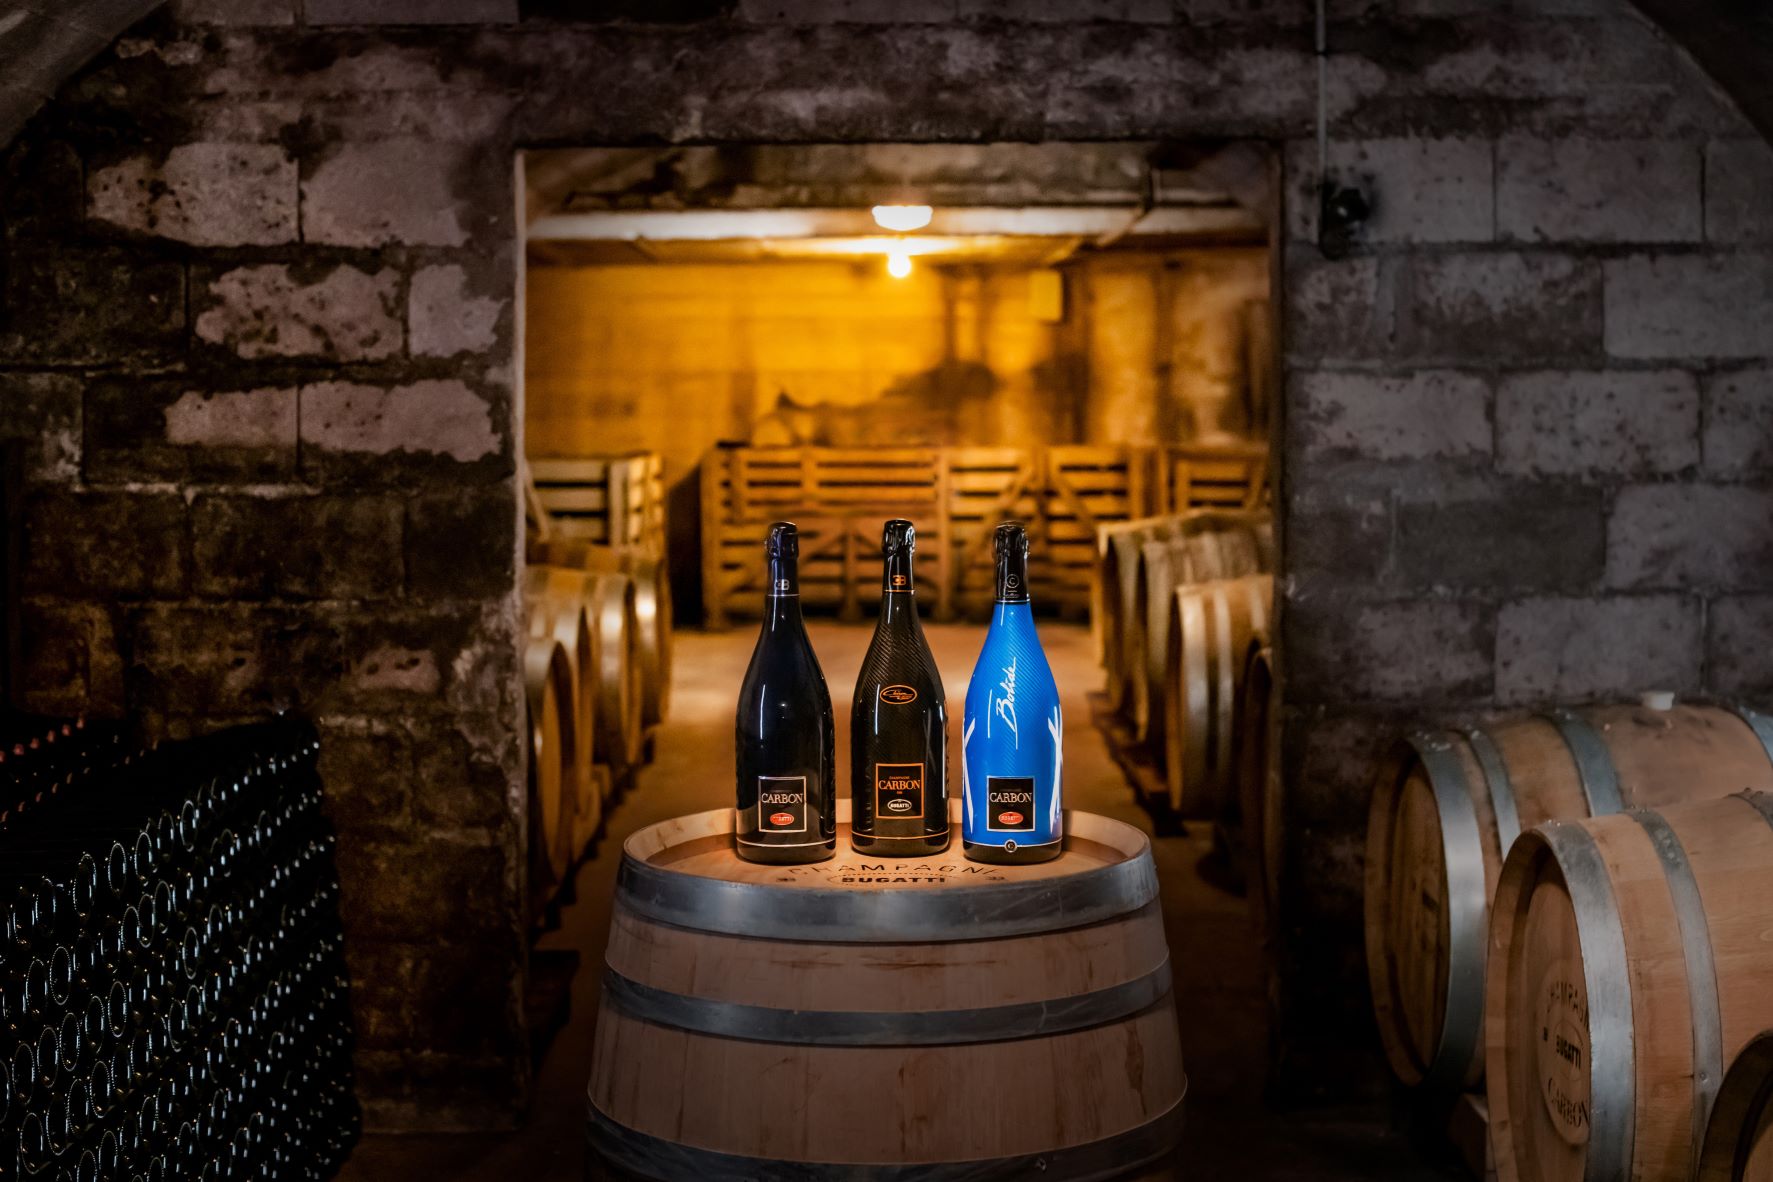
[[[665,466],[656,452],[541,455],[528,468],[558,537],[663,553]]]

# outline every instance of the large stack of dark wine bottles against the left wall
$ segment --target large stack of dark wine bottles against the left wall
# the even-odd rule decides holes
[[[312,727],[0,750],[0,1180],[324,1178],[358,1132]]]

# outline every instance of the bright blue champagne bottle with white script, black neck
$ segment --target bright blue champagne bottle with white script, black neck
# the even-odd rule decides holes
[[[1028,535],[1005,521],[993,540],[996,606],[961,723],[961,847],[975,861],[1046,861],[1058,856],[1064,838],[1064,718],[1034,633]]]

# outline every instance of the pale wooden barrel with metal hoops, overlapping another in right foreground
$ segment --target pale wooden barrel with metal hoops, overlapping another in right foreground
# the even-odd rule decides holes
[[[1496,1177],[1690,1178],[1723,1067],[1773,1026],[1773,797],[1528,829],[1489,934]]]

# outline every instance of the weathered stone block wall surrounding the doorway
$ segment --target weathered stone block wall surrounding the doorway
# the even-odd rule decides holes
[[[378,1124],[496,1124],[527,1083],[521,145],[1278,145],[1298,1092],[1372,1077],[1360,833],[1401,718],[1773,691],[1773,152],[1621,0],[1333,0],[1333,163],[1374,200],[1337,261],[1307,4],[527,14],[183,0],[7,161],[32,700],[323,719]],[[349,25],[441,16],[496,25]]]

